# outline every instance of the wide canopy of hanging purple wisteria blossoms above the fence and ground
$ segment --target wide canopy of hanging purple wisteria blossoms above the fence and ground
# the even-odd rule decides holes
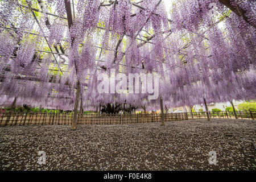
[[[27,7],[39,7],[36,1],[27,2]],[[17,96],[18,105],[72,110],[79,81],[84,108],[159,108],[159,100],[147,100],[148,93],[97,93],[98,74],[110,76],[111,69],[126,76],[160,73],[159,95],[167,107],[201,104],[203,97],[208,102],[256,97],[254,1],[230,0],[245,11],[246,22],[217,0],[174,1],[170,19],[159,0],[137,5],[130,0],[78,0],[75,11],[71,6],[70,30],[70,19],[62,19],[67,16],[65,2],[72,5],[47,0],[45,10],[59,17],[35,13],[40,26],[23,1],[0,2],[1,106]],[[68,65],[57,53],[60,43]]]

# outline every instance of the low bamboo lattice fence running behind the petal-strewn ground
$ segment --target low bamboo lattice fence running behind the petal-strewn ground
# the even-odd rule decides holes
[[[209,112],[210,118],[235,119],[228,111]],[[237,112],[239,119],[254,119],[256,112]],[[161,122],[161,114],[78,114],[79,125],[113,125],[126,123]],[[165,113],[165,121],[207,118],[207,112]],[[73,113],[0,113],[0,126],[13,125],[71,125]]]

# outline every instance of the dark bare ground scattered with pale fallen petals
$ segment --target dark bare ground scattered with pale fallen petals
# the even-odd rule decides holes
[[[255,170],[255,121],[0,127],[0,170]],[[39,151],[46,164],[38,164]],[[210,165],[209,152],[217,154]]]

